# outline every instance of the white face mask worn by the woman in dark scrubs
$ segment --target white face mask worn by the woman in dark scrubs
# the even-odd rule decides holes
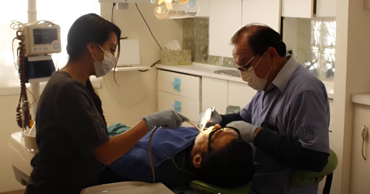
[[[118,58],[112,55],[112,53],[104,50],[98,43],[96,44],[101,48],[101,50],[104,51],[104,59],[102,61],[97,61],[95,57],[91,55],[92,58],[95,59],[94,68],[96,77],[99,78],[114,68],[114,66],[117,64]]]

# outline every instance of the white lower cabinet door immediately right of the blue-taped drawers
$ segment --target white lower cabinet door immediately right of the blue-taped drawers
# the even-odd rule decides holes
[[[213,106],[219,114],[226,113],[228,80],[202,77],[202,111]]]

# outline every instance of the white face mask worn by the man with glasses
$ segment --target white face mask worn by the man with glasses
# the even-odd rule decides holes
[[[263,58],[263,56],[265,56],[266,52],[263,53],[261,59]],[[253,57],[252,57],[252,59],[253,59]],[[252,60],[252,59],[250,59],[250,60]],[[245,82],[248,82],[247,84],[248,84],[249,87],[251,87],[255,90],[258,90],[258,91],[265,89],[265,86],[266,86],[266,83],[267,83],[266,78],[267,78],[267,76],[269,75],[269,73],[272,69],[272,66],[271,66],[271,68],[270,68],[269,72],[267,73],[267,75],[265,76],[265,78],[259,78],[256,75],[254,70],[256,69],[256,67],[257,67],[257,65],[258,65],[258,63],[260,62],[261,59],[259,59],[259,61],[257,62],[256,66],[254,68],[250,67],[250,68],[248,68],[247,71],[245,71],[245,70],[243,71],[243,70],[239,69],[240,76],[242,77],[242,80],[245,81]],[[250,60],[249,60],[249,62],[250,62]],[[247,65],[248,65],[248,63],[247,63]]]

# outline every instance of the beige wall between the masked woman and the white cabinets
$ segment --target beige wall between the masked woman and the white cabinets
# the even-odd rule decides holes
[[[169,40],[179,40],[182,45],[182,20],[159,20],[154,16],[155,4],[138,3],[149,27],[164,47]],[[101,3],[101,16],[111,19],[111,3]],[[141,18],[134,3],[128,10],[114,10],[114,23],[122,30],[122,37],[139,39],[141,65],[151,66],[160,59],[160,50]],[[122,122],[133,126],[147,114],[157,111],[157,70],[147,72],[116,72],[119,88],[113,80],[113,73],[102,80],[102,89],[97,92],[103,103],[108,124]]]

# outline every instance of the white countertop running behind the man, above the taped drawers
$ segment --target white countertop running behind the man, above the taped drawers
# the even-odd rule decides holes
[[[155,65],[158,69],[164,69],[179,73],[186,73],[189,75],[196,75],[196,76],[206,76],[211,78],[218,78],[218,79],[225,79],[233,82],[240,82],[245,83],[242,78],[228,76],[228,75],[219,75],[217,73],[213,73],[216,70],[235,70],[235,68],[228,68],[223,66],[216,66],[216,65],[209,65],[203,63],[193,63],[192,65]],[[328,94],[329,99],[334,98],[334,83],[333,82],[326,82],[323,81],[326,91]]]

